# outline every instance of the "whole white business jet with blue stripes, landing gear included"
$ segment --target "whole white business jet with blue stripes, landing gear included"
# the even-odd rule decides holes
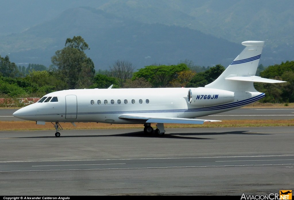
[[[14,117],[54,124],[60,122],[144,124],[144,132],[165,133],[164,123],[203,124],[217,120],[195,119],[243,107],[265,96],[253,82],[282,83],[255,76],[263,41],[242,42],[245,49],[212,83],[199,88],[79,89],[53,92],[13,113]]]

